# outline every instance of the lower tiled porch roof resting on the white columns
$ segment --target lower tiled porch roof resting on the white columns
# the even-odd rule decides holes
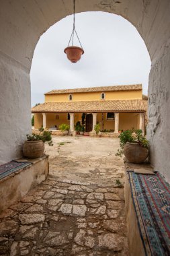
[[[143,100],[93,100],[45,102],[32,108],[32,113],[142,112]]]

